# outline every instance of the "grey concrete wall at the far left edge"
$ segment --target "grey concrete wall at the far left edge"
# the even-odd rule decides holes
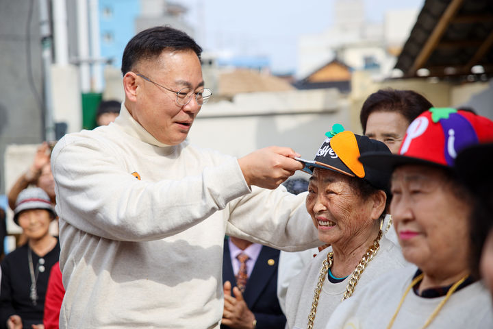
[[[29,5],[31,25],[26,31]],[[39,1],[0,1],[0,194],[5,193],[3,154],[11,143],[42,141]],[[30,47],[30,66],[27,46]],[[36,92],[33,91],[33,88]]]

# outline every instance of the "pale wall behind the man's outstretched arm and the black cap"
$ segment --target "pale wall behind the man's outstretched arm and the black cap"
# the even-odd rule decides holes
[[[278,145],[312,159],[334,123],[349,126],[348,110],[335,89],[240,94],[203,106],[188,140],[237,157]]]

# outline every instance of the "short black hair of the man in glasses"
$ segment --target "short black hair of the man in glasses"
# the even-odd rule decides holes
[[[151,60],[161,55],[164,49],[192,50],[201,58],[202,48],[188,34],[169,26],[156,26],[139,32],[131,38],[123,51],[122,74],[134,68],[140,60]]]

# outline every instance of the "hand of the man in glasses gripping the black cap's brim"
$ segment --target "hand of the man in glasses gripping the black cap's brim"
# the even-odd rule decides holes
[[[273,189],[296,170],[303,169],[301,162],[292,159],[294,156],[300,155],[289,147],[270,146],[253,151],[238,159],[238,163],[249,186]]]

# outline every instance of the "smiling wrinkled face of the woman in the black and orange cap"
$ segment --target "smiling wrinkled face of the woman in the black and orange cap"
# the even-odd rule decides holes
[[[310,178],[306,207],[318,229],[318,239],[332,245],[346,244],[353,236],[370,232],[375,225],[373,202],[354,191],[349,176],[316,168]],[[385,201],[383,202],[385,204]],[[383,211],[383,208],[380,210]]]

